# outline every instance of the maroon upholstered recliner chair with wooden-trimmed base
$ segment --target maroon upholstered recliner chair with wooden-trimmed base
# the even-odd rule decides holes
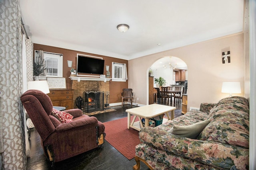
[[[73,115],[73,120],[61,123],[52,115],[50,98],[40,90],[28,90],[20,99],[50,161],[59,162],[104,143],[105,126],[96,117],[83,115],[80,109],[69,109],[64,112]]]

